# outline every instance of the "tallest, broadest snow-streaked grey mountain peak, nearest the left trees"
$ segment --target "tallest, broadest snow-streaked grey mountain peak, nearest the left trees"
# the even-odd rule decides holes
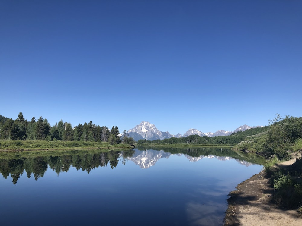
[[[133,137],[135,141],[138,141],[140,139],[163,140],[172,137],[172,135],[168,131],[161,132],[155,127],[155,125],[145,121],[142,121],[133,129],[128,130],[127,135],[129,137]]]

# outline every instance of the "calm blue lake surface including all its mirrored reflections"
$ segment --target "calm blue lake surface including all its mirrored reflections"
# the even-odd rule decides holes
[[[222,225],[262,160],[226,148],[0,153],[2,225]]]

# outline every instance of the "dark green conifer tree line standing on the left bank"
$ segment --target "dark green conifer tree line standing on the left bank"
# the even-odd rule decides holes
[[[47,141],[96,141],[110,144],[133,144],[134,140],[124,136],[121,139],[117,126],[111,130],[105,126],[97,126],[89,121],[72,127],[70,123],[62,119],[54,126],[50,126],[47,119],[40,116],[38,120],[32,117],[31,121],[24,119],[22,112],[13,120],[0,115],[0,139],[1,140],[47,140]]]

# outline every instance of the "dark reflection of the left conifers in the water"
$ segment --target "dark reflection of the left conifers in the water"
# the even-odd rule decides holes
[[[72,166],[77,170],[82,169],[90,173],[94,168],[106,167],[110,164],[113,169],[117,167],[119,158],[123,158],[123,163],[127,157],[131,157],[135,153],[134,150],[126,151],[108,151],[108,152],[88,152],[88,151],[68,151],[63,154],[60,152],[41,152],[41,156],[31,157],[30,152],[25,157],[20,157],[17,153],[2,153],[0,156],[0,173],[5,179],[11,175],[13,184],[16,184],[20,175],[27,174],[27,178],[33,175],[35,180],[43,177],[47,168],[51,168],[59,175],[61,172],[67,172]],[[37,154],[37,152],[35,152]]]

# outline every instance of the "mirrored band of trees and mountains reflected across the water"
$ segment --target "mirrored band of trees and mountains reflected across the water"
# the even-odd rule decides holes
[[[34,157],[32,157],[34,155]],[[41,155],[41,156],[40,156]],[[249,166],[252,163],[262,164],[261,158],[248,158],[242,156],[228,148],[160,148],[146,149],[138,147],[136,150],[124,151],[65,151],[65,152],[18,152],[0,153],[0,173],[5,179],[12,177],[13,184],[25,172],[27,178],[34,177],[35,180],[43,177],[48,167],[59,176],[61,172],[68,172],[70,167],[77,170],[86,171],[88,174],[94,168],[107,167],[111,169],[117,167],[121,161],[126,164],[127,160],[146,169],[154,166],[159,159],[169,158],[171,155],[184,155],[190,162],[197,162],[203,158],[216,158],[221,161],[235,159],[242,165]]]

